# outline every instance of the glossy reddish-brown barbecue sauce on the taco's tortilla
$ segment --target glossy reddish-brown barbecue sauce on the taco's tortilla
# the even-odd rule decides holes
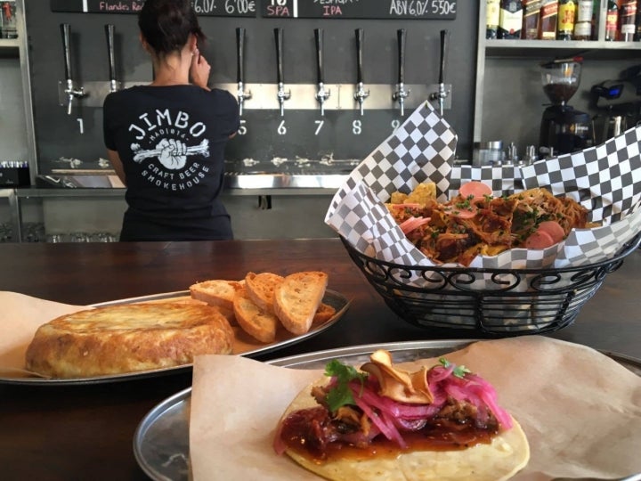
[[[310,421],[319,419],[323,408],[304,409],[292,412],[283,420],[280,438],[288,449],[315,463],[337,460],[364,461],[369,459],[394,459],[403,452],[417,451],[462,451],[475,444],[490,444],[498,429],[476,428],[471,424],[461,424],[452,428],[444,424],[427,424],[416,431],[403,431],[402,437],[408,444],[403,449],[394,441],[378,435],[370,444],[357,447],[346,442],[319,444],[315,436],[310,436]],[[323,410],[324,411],[324,410]]]

